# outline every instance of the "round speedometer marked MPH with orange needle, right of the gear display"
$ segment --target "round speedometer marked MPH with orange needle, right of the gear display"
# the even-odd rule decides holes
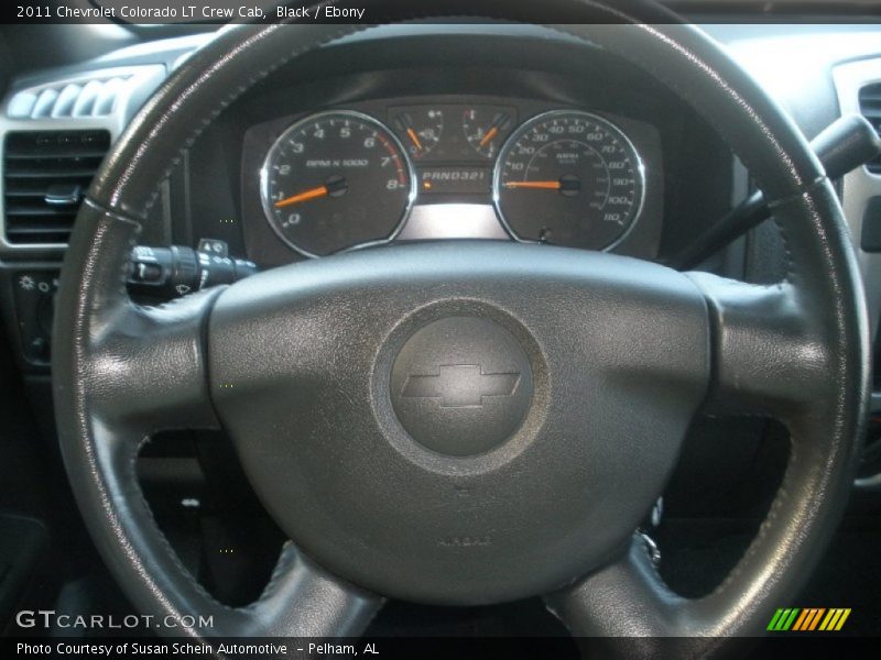
[[[502,147],[493,201],[518,240],[602,250],[632,227],[644,188],[639,155],[618,127],[558,110],[525,122]]]

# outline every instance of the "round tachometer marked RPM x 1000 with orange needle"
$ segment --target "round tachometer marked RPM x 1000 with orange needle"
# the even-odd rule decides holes
[[[306,256],[391,240],[416,194],[394,134],[348,110],[289,128],[270,150],[261,179],[272,229]]]

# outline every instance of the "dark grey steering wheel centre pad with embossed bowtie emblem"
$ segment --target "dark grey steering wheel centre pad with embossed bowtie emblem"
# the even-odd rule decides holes
[[[546,593],[608,561],[709,380],[688,277],[547,245],[274,268],[224,292],[208,332],[217,415],[279,526],[336,575],[424,603]]]

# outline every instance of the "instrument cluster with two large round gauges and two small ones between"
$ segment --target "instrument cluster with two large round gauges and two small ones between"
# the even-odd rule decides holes
[[[587,250],[614,248],[640,221],[646,165],[628,133],[638,122],[465,100],[276,123],[259,185],[270,227],[297,253],[324,256],[395,240],[414,206],[483,205],[514,240]]]

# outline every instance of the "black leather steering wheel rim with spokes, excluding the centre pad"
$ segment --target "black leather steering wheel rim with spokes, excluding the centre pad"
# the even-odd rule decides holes
[[[431,4],[422,9],[426,15],[450,13],[432,11]],[[835,529],[866,418],[868,323],[840,206],[800,131],[699,30],[675,24],[648,4],[634,3],[627,12],[616,4],[562,3],[589,11],[595,21],[632,25],[555,29],[667,84],[721,134],[771,200],[787,251],[784,282],[757,286],[699,273],[688,277],[703,294],[711,330],[708,400],[780,419],[791,432],[792,455],[758,537],[713,594],[689,601],[670,592],[634,540],[603,566],[545,597],[576,635],[705,637],[689,653],[709,656],[728,648],[725,638],[764,629],[774,608],[795,595]],[[502,0],[470,2],[468,9],[524,18]],[[203,338],[222,290],[145,309],[132,304],[124,283],[129,251],[160,183],[204,128],[273,70],[363,29],[225,30],[148,101],[105,161],[76,222],[53,340],[63,457],[95,542],[132,603],[159,617],[214,616],[213,628],[195,625],[172,634],[357,635],[382,603],[292,543],[263,595],[248,607],[224,606],[196,584],[157,529],[134,462],[159,428],[219,426]],[[648,644],[640,652],[659,649]]]

